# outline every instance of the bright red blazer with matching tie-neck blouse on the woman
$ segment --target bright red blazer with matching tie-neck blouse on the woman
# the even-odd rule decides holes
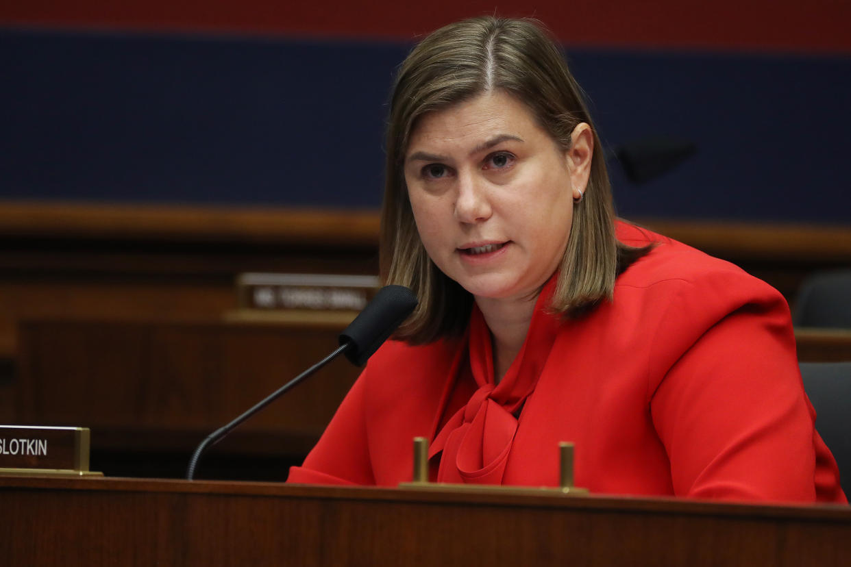
[[[551,281],[495,387],[477,309],[460,339],[386,343],[288,482],[395,486],[423,436],[433,478],[557,486],[558,442],[573,441],[575,484],[593,493],[846,502],[780,293],[677,241],[618,230],[657,246],[612,302],[557,320]]]

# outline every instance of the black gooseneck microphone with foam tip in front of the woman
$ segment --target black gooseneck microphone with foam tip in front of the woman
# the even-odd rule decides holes
[[[382,287],[372,301],[355,317],[355,320],[351,321],[346,330],[340,333],[340,347],[338,349],[285,383],[241,416],[209,434],[192,454],[189,467],[186,469],[186,479],[191,480],[195,476],[195,468],[204,451],[224,439],[233,428],[247,420],[248,417],[253,416],[266,405],[277,400],[290,388],[334,360],[338,354],[345,353],[346,358],[351,360],[352,364],[363,366],[368,358],[387,340],[387,337],[390,337],[391,333],[396,331],[397,326],[401,325],[402,321],[408,318],[408,315],[411,315],[417,303],[419,302],[414,292],[405,286]]]

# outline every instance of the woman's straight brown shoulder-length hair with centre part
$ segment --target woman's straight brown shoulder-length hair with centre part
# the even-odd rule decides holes
[[[614,235],[614,212],[600,139],[562,53],[534,20],[473,18],[442,27],[403,61],[393,87],[386,139],[380,267],[386,284],[420,298],[396,337],[428,343],[463,332],[472,296],[431,262],[414,224],[403,162],[420,117],[501,89],[527,105],[563,150],[581,122],[591,126],[594,152],[585,197],[574,206],[568,246],[550,309],[576,317],[612,298],[615,276],[643,254]],[[567,190],[567,188],[565,188]]]

